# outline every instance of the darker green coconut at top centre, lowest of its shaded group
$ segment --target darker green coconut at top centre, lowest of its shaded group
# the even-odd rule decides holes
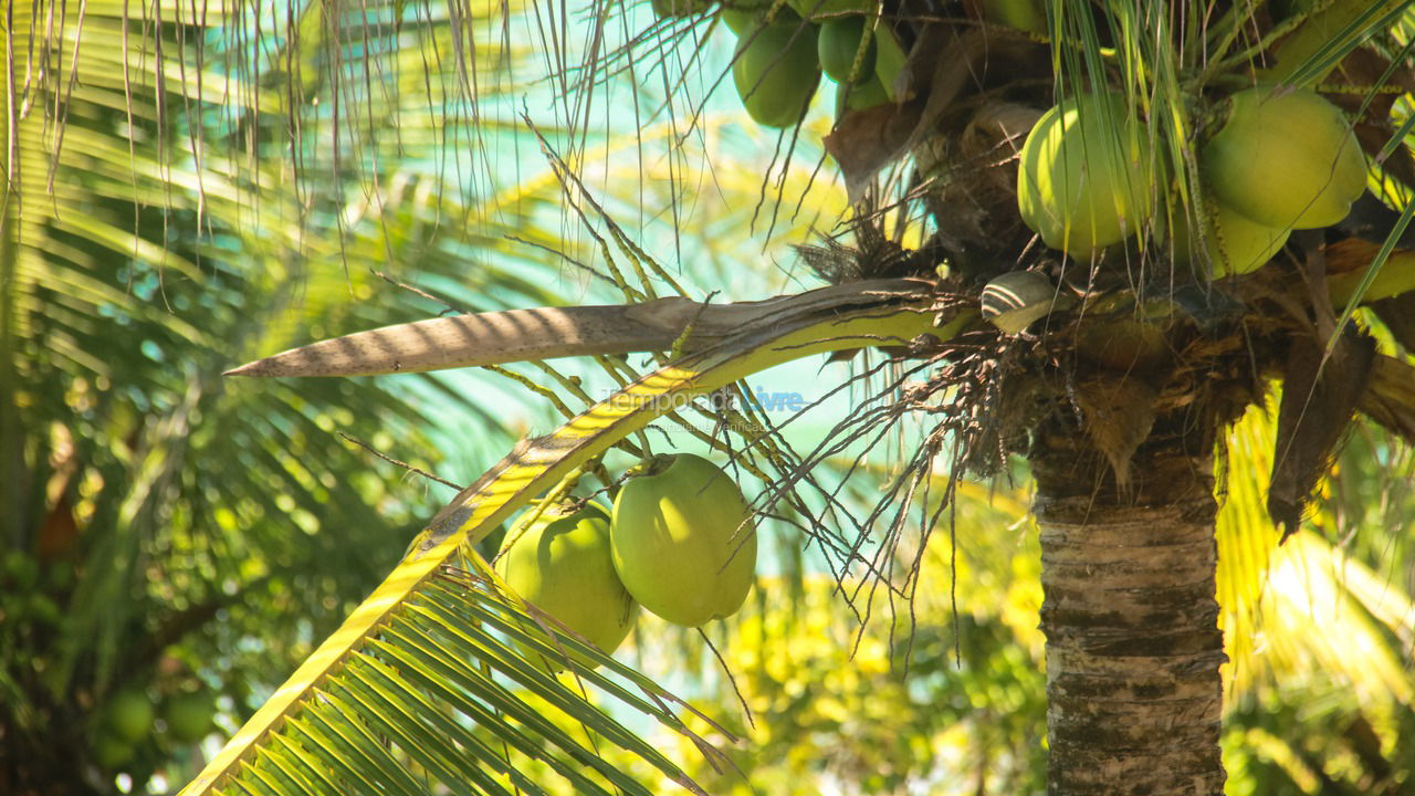
[[[747,113],[766,127],[790,127],[805,116],[821,84],[816,25],[770,24],[741,35],[732,81]]]

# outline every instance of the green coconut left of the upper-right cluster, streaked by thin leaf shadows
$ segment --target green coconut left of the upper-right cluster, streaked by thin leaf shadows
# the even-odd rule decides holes
[[[1133,237],[1153,203],[1150,147],[1119,95],[1081,95],[1041,115],[1022,146],[1017,208],[1053,249],[1088,256]]]

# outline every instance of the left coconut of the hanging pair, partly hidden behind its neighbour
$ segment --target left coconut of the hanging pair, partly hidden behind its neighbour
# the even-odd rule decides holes
[[[608,514],[593,503],[579,511],[552,506],[522,534],[524,523],[507,534],[514,541],[497,572],[522,599],[613,653],[634,626],[638,603],[614,572]],[[562,661],[546,664],[565,669]]]

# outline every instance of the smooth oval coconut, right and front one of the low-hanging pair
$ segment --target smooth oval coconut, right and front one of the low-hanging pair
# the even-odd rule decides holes
[[[610,542],[634,599],[685,627],[736,613],[757,567],[741,491],[692,453],[655,456],[620,489]]]

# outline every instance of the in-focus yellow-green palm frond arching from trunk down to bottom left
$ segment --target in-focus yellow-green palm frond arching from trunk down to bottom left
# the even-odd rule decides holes
[[[913,296],[865,296],[850,309],[821,312],[809,307],[794,316],[780,314],[770,323],[749,324],[736,337],[630,384],[555,433],[524,443],[433,518],[403,562],[276,691],[185,793],[239,792],[242,788],[297,790],[299,780],[287,778],[277,782],[272,773],[277,763],[293,765],[296,761],[283,752],[289,745],[321,749],[324,766],[335,772],[328,775],[316,766],[318,771],[310,772],[310,776],[323,773],[342,780],[357,772],[355,779],[362,778],[393,792],[405,790],[409,785],[406,763],[381,751],[374,742],[374,732],[383,735],[429,776],[444,783],[447,778],[471,778],[470,772],[458,768],[471,765],[466,762],[468,759],[477,761],[478,772],[485,771],[481,766],[490,766],[511,776],[505,766],[497,768],[499,758],[495,755],[478,758],[466,754],[475,748],[475,741],[473,729],[461,722],[477,725],[478,720],[485,722],[497,715],[508,718],[490,727],[494,735],[526,734],[558,744],[556,748],[569,759],[587,759],[584,755],[590,752],[584,746],[572,745],[560,737],[548,738],[545,727],[529,722],[535,711],[524,703],[525,697],[492,688],[494,681],[485,678],[485,669],[514,680],[599,737],[633,751],[675,782],[689,785],[672,762],[618,725],[608,712],[590,705],[563,683],[541,674],[522,656],[511,653],[491,629],[516,642],[533,643],[533,635],[519,629],[532,620],[511,608],[514,601],[507,602],[497,596],[495,589],[475,579],[463,581],[461,588],[449,588],[444,581],[447,568],[466,572],[470,559],[471,569],[485,572],[470,545],[533,496],[553,487],[618,439],[671,411],[671,398],[702,395],[750,373],[808,354],[907,341],[932,329],[932,314],[925,310],[927,300]],[[572,652],[584,652],[574,642],[569,646]],[[553,654],[553,647],[545,652]],[[447,683],[440,697],[413,686],[415,673],[422,670],[430,674],[433,663],[437,663],[437,674],[432,680]],[[576,661],[570,659],[570,663]],[[613,695],[623,705],[676,724],[668,714],[647,710],[649,703],[630,700],[627,691],[611,688],[608,678],[583,671],[580,666],[574,669],[582,681]],[[623,667],[611,666],[611,670],[630,674]],[[427,677],[423,677],[423,684],[433,693],[440,688],[427,684]],[[666,698],[647,680],[637,678],[635,686],[645,690],[651,703]],[[461,698],[454,700],[457,695]],[[453,708],[461,718],[433,731],[427,724],[430,718],[423,718],[429,705]],[[515,731],[505,724],[514,717],[526,720],[518,722]],[[328,731],[304,731],[314,727]],[[463,729],[451,735],[454,746],[440,739],[457,727]],[[341,763],[342,769],[335,769],[335,763]],[[481,773],[470,780],[492,792],[499,788]],[[533,789],[514,782],[514,778],[512,783]]]

